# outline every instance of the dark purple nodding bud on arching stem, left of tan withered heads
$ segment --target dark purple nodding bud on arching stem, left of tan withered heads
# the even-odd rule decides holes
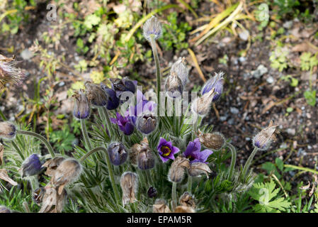
[[[120,142],[110,143],[108,146],[108,155],[113,165],[122,165],[128,157],[128,152]]]

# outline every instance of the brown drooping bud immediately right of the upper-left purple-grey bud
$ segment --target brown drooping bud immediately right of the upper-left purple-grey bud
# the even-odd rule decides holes
[[[85,83],[86,96],[95,106],[106,106],[108,104],[108,95],[98,84],[91,82]]]

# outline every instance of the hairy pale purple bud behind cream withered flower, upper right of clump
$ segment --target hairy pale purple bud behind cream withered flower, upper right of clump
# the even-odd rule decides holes
[[[215,96],[213,96],[212,101],[217,101],[217,99],[220,99],[220,96],[223,92],[223,84],[224,84],[224,78],[223,78],[224,72],[219,72],[218,74],[215,72],[215,76],[209,79],[207,82],[205,82],[203,89],[202,89],[202,95],[205,93],[210,92],[213,88],[215,89]]]

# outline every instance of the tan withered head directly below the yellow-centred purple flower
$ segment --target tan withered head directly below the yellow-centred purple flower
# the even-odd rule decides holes
[[[174,162],[172,162],[169,173],[168,173],[168,179],[170,182],[181,182],[184,173],[186,172],[186,169],[188,169],[190,165],[189,160],[186,157],[183,157],[182,155],[179,155],[176,157]]]

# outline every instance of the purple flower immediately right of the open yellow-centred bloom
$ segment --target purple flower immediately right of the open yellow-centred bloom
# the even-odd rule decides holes
[[[186,148],[186,151],[183,153],[183,155],[190,160],[190,163],[192,162],[203,162],[205,164],[208,164],[206,160],[210,155],[212,155],[212,150],[205,149],[203,151],[201,150],[201,143],[199,138],[196,138],[193,141],[190,141],[188,143],[188,146]]]

